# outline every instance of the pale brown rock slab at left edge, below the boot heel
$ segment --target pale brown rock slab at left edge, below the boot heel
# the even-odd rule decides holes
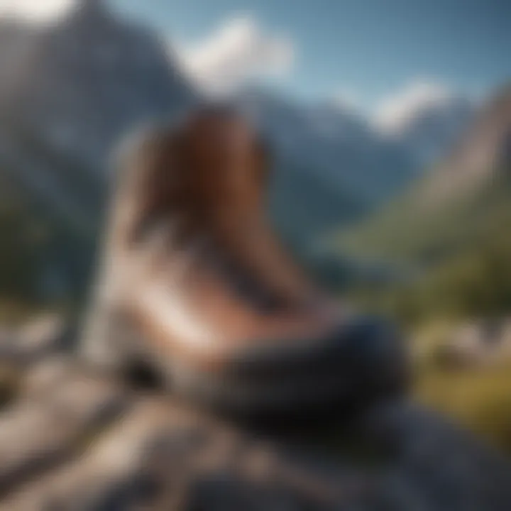
[[[0,414],[0,493],[73,456],[128,405],[119,385],[79,372],[53,383]]]

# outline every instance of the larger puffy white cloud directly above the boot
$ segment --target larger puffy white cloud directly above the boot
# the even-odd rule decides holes
[[[177,55],[199,87],[223,94],[251,79],[287,75],[295,48],[286,35],[266,32],[251,16],[238,16],[197,43],[177,48]]]

